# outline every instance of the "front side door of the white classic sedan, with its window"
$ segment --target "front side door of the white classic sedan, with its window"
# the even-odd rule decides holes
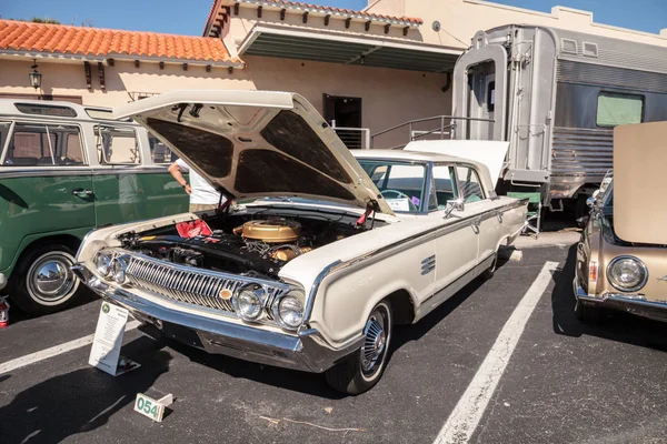
[[[477,264],[478,228],[475,225],[476,209],[465,208],[445,218],[447,202],[459,198],[452,164],[434,167],[434,183],[429,199],[429,218],[439,220],[440,229],[436,238],[436,289],[432,305],[450,297],[470,281],[471,271]]]

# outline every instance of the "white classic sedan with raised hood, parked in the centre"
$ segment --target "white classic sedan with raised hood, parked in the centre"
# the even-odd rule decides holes
[[[485,164],[419,143],[351,152],[298,94],[173,91],[115,114],[240,204],[93,231],[79,278],[148,334],[326,372],[345,393],[378,382],[395,324],[491,275],[526,220]],[[179,235],[198,220],[200,235]]]

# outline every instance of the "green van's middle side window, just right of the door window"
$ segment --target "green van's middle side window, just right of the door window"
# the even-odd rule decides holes
[[[100,163],[130,165],[141,163],[139,141],[135,130],[97,125],[94,134]]]

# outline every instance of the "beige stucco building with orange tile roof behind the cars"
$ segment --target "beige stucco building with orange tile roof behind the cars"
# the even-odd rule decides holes
[[[563,7],[542,13],[481,0],[369,0],[354,11],[213,0],[203,37],[0,20],[0,97],[115,105],[173,89],[287,90],[337,127],[368,129],[341,131],[350,145],[365,145],[371,133],[449,114],[456,59],[476,31],[508,23],[667,48],[667,29],[610,27]],[[39,89],[29,81],[33,63]]]

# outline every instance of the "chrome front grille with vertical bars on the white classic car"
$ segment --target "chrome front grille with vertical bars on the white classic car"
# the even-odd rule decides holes
[[[269,284],[245,276],[171,264],[142,254],[123,255],[128,258],[126,275],[132,286],[197,307],[235,313],[231,299],[221,299],[220,292],[229,290],[233,294],[239,287],[250,283],[263,287],[267,294],[265,306],[270,307],[276,296],[288,290],[287,285],[279,282]],[[267,310],[267,313],[271,313],[271,310]],[[272,319],[270,314],[268,317]]]

